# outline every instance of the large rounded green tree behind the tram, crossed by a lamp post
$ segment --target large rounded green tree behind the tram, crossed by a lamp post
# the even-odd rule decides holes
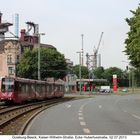
[[[41,79],[48,77],[64,78],[67,73],[67,64],[64,55],[52,48],[40,49],[40,73]],[[20,63],[17,65],[17,76],[37,79],[38,49],[27,49]]]

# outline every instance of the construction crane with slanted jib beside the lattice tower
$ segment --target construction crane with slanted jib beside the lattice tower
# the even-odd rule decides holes
[[[94,47],[94,54],[93,54],[93,69],[96,69],[97,68],[97,57],[98,57],[98,51],[99,51],[99,47],[100,47],[100,44],[101,44],[101,41],[102,41],[102,37],[103,37],[103,33],[101,33],[100,35],[100,39],[99,39],[99,43],[98,43],[98,46],[97,48]]]

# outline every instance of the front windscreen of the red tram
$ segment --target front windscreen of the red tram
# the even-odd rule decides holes
[[[14,90],[14,80],[11,78],[2,79],[2,92],[12,92]]]

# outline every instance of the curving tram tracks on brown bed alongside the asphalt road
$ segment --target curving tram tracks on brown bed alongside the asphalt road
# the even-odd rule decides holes
[[[13,106],[0,110],[0,135],[24,134],[28,123],[41,111],[51,106],[74,100],[75,98],[61,98],[37,102],[33,104]],[[30,119],[29,119],[30,118]],[[23,120],[23,122],[22,122]],[[20,131],[19,131],[20,130]]]

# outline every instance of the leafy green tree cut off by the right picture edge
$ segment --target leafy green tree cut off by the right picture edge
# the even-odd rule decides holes
[[[128,55],[130,64],[136,68],[140,68],[140,7],[136,11],[130,11],[133,17],[126,18],[126,22],[130,26],[128,37],[125,40],[125,53]]]

